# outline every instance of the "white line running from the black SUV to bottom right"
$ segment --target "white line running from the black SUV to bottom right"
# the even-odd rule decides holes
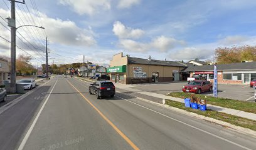
[[[117,96],[117,98],[124,99],[124,98],[121,98],[120,96]],[[209,133],[208,131],[205,131],[205,130],[203,130],[203,129],[196,128],[195,126],[191,126],[190,124],[184,123],[183,121],[179,121],[178,119],[171,118],[170,116],[167,116],[167,115],[165,115],[165,114],[159,113],[158,111],[154,111],[153,109],[147,108],[147,107],[145,107],[145,106],[142,106],[142,105],[140,105],[140,104],[134,103],[134,102],[129,101],[129,100],[127,100],[127,99],[124,99],[124,100],[125,100],[125,101],[128,101],[128,102],[130,102],[130,103],[136,104],[137,106],[141,106],[142,108],[148,109],[149,111],[153,111],[154,113],[161,114],[162,116],[164,116],[164,117],[166,117],[166,118],[169,118],[169,119],[172,119],[172,120],[174,120],[174,121],[177,121],[178,123],[184,124],[184,125],[189,126],[189,127],[191,127],[191,128],[197,129],[198,131],[201,131],[201,132],[203,132],[203,133],[206,133],[206,134],[209,134],[209,135],[211,135],[211,136],[214,136],[215,138],[222,139],[223,141],[226,141],[226,142],[228,142],[228,143],[234,144],[234,145],[236,145],[236,146],[238,146],[238,147],[240,147],[240,148],[247,149],[247,150],[252,150],[252,149],[247,148],[247,147],[245,147],[245,146],[242,146],[242,145],[240,145],[240,144],[234,143],[234,142],[232,142],[232,141],[230,141],[230,140],[228,140],[228,139],[221,138],[220,136],[217,136],[217,135],[215,135],[215,134]]]

